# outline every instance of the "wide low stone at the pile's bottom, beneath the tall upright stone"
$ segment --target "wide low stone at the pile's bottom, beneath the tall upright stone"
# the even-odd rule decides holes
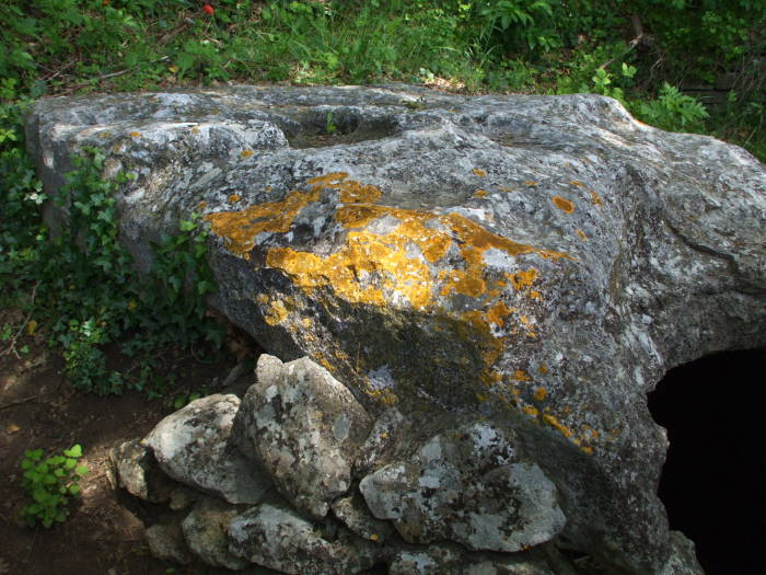
[[[326,524],[326,521],[325,521]],[[329,533],[323,532],[323,528]],[[329,537],[328,537],[329,536]],[[378,547],[343,527],[313,524],[285,505],[264,503],[229,525],[229,549],[253,563],[300,575],[346,575],[372,567]]]

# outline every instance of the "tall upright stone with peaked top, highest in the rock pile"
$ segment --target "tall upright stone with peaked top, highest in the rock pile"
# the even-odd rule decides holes
[[[351,392],[309,358],[262,355],[233,436],[299,510],[315,518],[351,486],[351,465],[372,421]]]

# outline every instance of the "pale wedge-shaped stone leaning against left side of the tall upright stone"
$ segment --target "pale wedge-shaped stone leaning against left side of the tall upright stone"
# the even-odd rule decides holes
[[[171,478],[229,503],[257,503],[270,481],[230,446],[236,395],[208,395],[162,419],[143,442]]]

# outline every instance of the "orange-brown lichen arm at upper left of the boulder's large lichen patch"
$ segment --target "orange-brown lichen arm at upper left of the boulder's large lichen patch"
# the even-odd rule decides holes
[[[224,238],[230,252],[242,255],[253,249],[260,232],[287,232],[303,207],[320,198],[320,191],[292,192],[281,202],[249,206],[242,211],[208,214],[205,219],[216,235]]]

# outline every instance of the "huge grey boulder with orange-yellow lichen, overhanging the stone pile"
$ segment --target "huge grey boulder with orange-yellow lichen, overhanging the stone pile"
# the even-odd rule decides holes
[[[338,130],[314,138],[330,112]],[[49,99],[27,136],[48,194],[83,146],[137,175],[118,208],[139,266],[201,212],[213,303],[266,349],[309,355],[371,413],[513,427],[568,545],[628,573],[666,563],[646,393],[766,344],[766,170],[744,150],[596,95],[410,87]]]

